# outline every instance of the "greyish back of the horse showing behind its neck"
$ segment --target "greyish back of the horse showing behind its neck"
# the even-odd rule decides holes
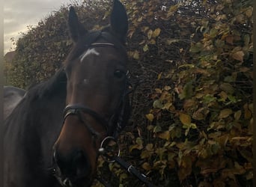
[[[21,88],[4,86],[4,120],[10,115],[24,95],[25,90]]]

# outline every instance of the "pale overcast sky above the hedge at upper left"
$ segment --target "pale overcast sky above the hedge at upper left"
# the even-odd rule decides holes
[[[20,32],[28,31],[28,25],[37,25],[49,13],[70,2],[72,0],[4,0],[4,54],[13,48],[11,37],[17,39]]]

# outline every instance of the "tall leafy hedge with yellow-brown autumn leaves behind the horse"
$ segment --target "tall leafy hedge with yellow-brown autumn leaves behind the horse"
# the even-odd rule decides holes
[[[252,1],[122,2],[139,83],[121,156],[156,186],[252,186]],[[76,10],[88,29],[100,28],[109,1]],[[26,88],[55,73],[71,45],[66,20],[61,7],[17,41],[9,84]],[[117,164],[100,160],[99,174],[142,186]]]

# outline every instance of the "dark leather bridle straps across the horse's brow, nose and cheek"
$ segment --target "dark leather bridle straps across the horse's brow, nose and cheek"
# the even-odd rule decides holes
[[[89,47],[99,47],[99,46],[115,47],[113,43],[91,43]],[[118,107],[115,109],[115,112],[114,114],[112,114],[112,117],[110,117],[109,121],[107,121],[103,116],[98,114],[96,111],[82,104],[67,105],[63,111],[64,121],[69,115],[76,115],[79,117],[79,120],[81,120],[81,122],[85,124],[89,132],[91,132],[91,135],[97,137],[99,136],[99,133],[96,132],[91,126],[88,126],[85,123],[84,117],[82,116],[82,114],[89,114],[91,117],[97,120],[97,122],[100,123],[100,125],[103,126],[104,129],[106,129],[108,136],[113,136],[117,138],[118,134],[121,132],[121,130],[124,127],[124,111],[125,111],[125,108],[127,107],[126,105],[127,95],[132,91],[129,88],[131,87],[131,84],[129,83],[129,80],[128,80],[129,71],[127,71],[125,76],[126,77],[125,77],[123,93],[121,94],[121,98],[118,101]]]

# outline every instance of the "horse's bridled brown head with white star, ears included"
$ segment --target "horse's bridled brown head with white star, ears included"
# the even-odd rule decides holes
[[[64,62],[67,107],[53,148],[55,176],[63,186],[91,186],[103,138],[115,136],[127,120],[127,13],[115,0],[111,24],[86,31],[70,7],[73,49]]]

